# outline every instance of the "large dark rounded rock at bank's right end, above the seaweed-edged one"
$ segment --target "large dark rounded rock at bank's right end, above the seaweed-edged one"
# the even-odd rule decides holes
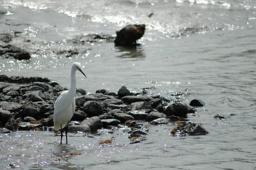
[[[194,108],[191,108],[191,106],[188,106],[187,104],[176,102],[168,106],[165,109],[164,113],[167,116],[175,115],[182,118],[187,118],[187,113],[195,113],[195,110]]]

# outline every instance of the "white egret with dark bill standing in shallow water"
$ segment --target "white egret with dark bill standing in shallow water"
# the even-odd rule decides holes
[[[72,118],[75,109],[75,101],[74,95],[76,94],[76,71],[84,72],[81,69],[81,65],[79,62],[74,62],[71,67],[71,82],[70,88],[67,91],[63,91],[62,94],[57,98],[54,106],[54,114],[53,114],[53,122],[54,122],[54,129],[55,131],[60,130],[61,137],[60,137],[60,144],[62,144],[62,132],[63,129],[66,127],[66,143],[67,143],[67,130],[69,120]],[[87,77],[84,74],[84,77]]]

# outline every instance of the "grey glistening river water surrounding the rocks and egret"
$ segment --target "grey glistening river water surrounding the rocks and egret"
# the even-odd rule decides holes
[[[77,87],[89,93],[122,85],[167,98],[186,91],[184,103],[206,103],[189,120],[209,132],[172,137],[174,124],[150,125],[147,140],[129,144],[123,127],[70,134],[69,145],[49,131],[12,132],[0,135],[1,169],[256,169],[254,0],[1,0],[0,11],[0,33],[16,35],[10,43],[32,54],[28,62],[1,58],[0,74],[69,87],[71,64],[81,62],[88,78],[77,74]],[[82,42],[130,23],[146,24],[136,48]],[[69,50],[77,53],[67,57]]]

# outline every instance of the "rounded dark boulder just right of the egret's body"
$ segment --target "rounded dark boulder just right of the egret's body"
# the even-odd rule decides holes
[[[84,113],[86,113],[89,117],[98,116],[104,113],[104,108],[97,101],[87,101],[84,103],[83,108]]]

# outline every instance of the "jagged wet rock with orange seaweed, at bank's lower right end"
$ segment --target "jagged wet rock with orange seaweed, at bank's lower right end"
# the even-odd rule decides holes
[[[177,127],[172,129],[171,134],[181,137],[187,135],[207,135],[208,131],[196,123],[177,121]]]

